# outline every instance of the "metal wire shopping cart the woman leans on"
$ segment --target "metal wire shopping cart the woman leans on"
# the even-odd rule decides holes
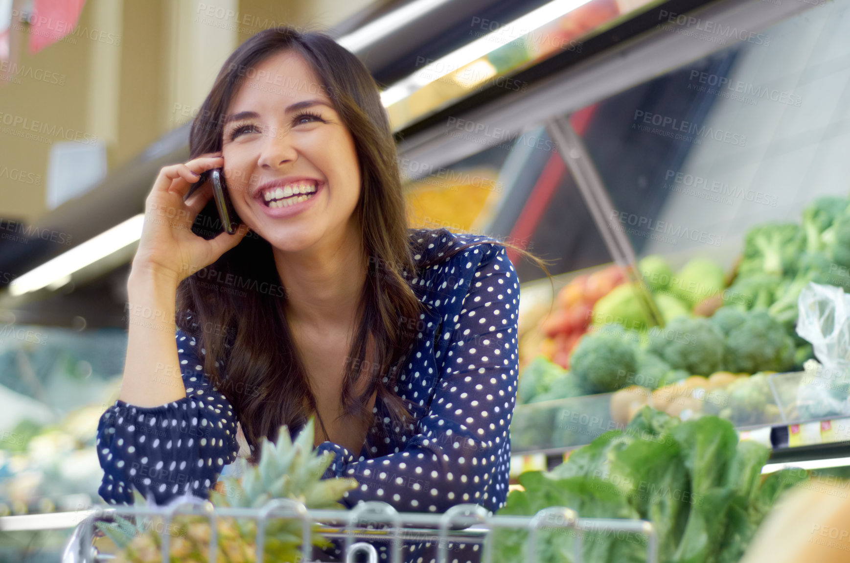
[[[302,503],[289,499],[273,499],[259,509],[215,508],[212,503],[178,503],[168,507],[106,506],[102,509],[88,510],[74,529],[65,544],[62,563],[105,563],[113,558],[111,554],[99,553],[94,546],[96,531],[94,522],[111,521],[114,515],[161,518],[162,529],[169,529],[177,515],[204,515],[210,521],[209,561],[214,563],[217,549],[217,518],[246,518],[257,521],[256,560],[263,561],[265,531],[272,518],[300,520],[303,524],[303,545],[309,546],[309,537],[314,524],[322,526],[320,532],[329,539],[344,542],[344,554],[347,562],[353,562],[358,554],[365,554],[369,563],[378,563],[377,549],[371,542],[382,540],[391,543],[389,549],[391,563],[401,563],[402,546],[405,540],[432,542],[438,548],[437,563],[449,560],[448,552],[452,543],[479,544],[482,549],[483,563],[492,560],[493,536],[500,529],[527,530],[528,537],[524,545],[524,561],[534,563],[537,560],[537,539],[542,530],[563,530],[570,532],[573,543],[573,561],[582,560],[582,538],[586,532],[625,532],[644,537],[646,540],[647,563],[656,563],[658,559],[658,538],[652,524],[645,520],[617,520],[603,518],[580,518],[574,510],[564,507],[543,509],[534,516],[492,515],[478,504],[458,504],[445,511],[445,514],[399,513],[388,503],[360,503],[350,510],[310,510]],[[386,526],[386,527],[381,527]],[[308,547],[308,549],[310,549]],[[161,553],[163,563],[169,561],[169,535],[161,534]],[[268,558],[266,559],[268,561]],[[309,561],[309,554],[303,553],[303,561]],[[385,558],[384,561],[387,559]]]

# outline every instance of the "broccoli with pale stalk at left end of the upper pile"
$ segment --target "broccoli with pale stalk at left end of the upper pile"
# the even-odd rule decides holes
[[[796,271],[796,260],[806,247],[806,236],[796,223],[764,223],[751,227],[744,239],[739,274],[784,276]]]

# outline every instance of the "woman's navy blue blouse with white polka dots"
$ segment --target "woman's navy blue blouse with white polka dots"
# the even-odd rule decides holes
[[[378,500],[399,512],[445,512],[458,503],[495,512],[507,498],[519,279],[505,248],[488,237],[448,230],[411,230],[411,237],[427,247],[417,264],[437,259],[408,276],[426,312],[399,320],[418,337],[395,388],[414,423],[390,428],[377,399],[360,452],[330,441],[317,447],[333,454],[323,477],[358,481],[342,500],[348,508]],[[439,259],[469,242],[478,244]],[[238,413],[202,371],[206,350],[179,329],[176,338],[186,396],[159,407],[117,400],[99,420],[99,494],[108,503],[133,503],[131,486],[159,504],[207,498],[240,450]]]

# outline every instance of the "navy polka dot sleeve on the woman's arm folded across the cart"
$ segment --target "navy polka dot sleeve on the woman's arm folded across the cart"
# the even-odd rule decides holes
[[[460,314],[454,322],[444,319],[441,338],[450,338],[450,345],[429,410],[405,449],[354,461],[351,452],[333,442],[318,448],[334,454],[326,476],[354,477],[360,483],[345,493],[348,508],[379,500],[399,512],[445,512],[458,503],[478,503],[495,512],[507,498],[507,428],[519,369],[519,278],[504,247],[485,243],[469,252],[483,256],[470,276]],[[474,267],[467,259],[459,264]]]

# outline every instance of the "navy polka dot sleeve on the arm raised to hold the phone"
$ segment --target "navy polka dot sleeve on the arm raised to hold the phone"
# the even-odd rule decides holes
[[[207,498],[224,465],[236,458],[234,409],[202,371],[205,350],[180,329],[176,338],[186,396],[158,407],[119,399],[100,417],[96,444],[104,477],[98,492],[107,503],[132,504],[132,486],[157,504],[187,493]]]

